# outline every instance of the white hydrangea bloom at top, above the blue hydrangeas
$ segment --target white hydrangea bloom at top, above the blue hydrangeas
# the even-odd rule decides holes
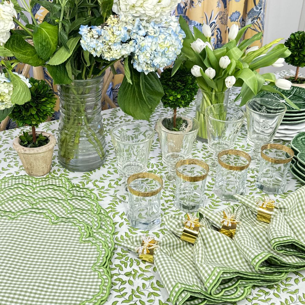
[[[112,10],[120,16],[133,16],[147,22],[166,20],[180,0],[114,0]]]

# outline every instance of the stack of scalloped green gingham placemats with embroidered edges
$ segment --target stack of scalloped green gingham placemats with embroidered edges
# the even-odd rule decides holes
[[[3,305],[106,302],[114,225],[97,197],[65,177],[0,180]]]

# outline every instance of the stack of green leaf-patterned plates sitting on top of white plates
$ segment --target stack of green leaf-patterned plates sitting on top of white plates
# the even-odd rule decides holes
[[[301,87],[292,86],[290,90],[282,90],[277,88],[278,91],[283,93],[289,98],[300,110],[292,108],[286,103],[287,111],[283,117],[282,124],[291,125],[305,122],[305,89]],[[285,102],[282,95],[278,93],[263,91],[260,92],[256,97],[274,99],[279,102]]]

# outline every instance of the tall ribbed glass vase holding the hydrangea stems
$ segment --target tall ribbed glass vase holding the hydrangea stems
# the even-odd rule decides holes
[[[59,163],[77,172],[95,170],[106,158],[102,123],[103,76],[58,85]]]

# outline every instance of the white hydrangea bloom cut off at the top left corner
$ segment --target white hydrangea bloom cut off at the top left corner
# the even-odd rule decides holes
[[[17,17],[14,5],[10,1],[0,3],[0,45],[9,40],[9,31],[15,27],[13,17]]]

